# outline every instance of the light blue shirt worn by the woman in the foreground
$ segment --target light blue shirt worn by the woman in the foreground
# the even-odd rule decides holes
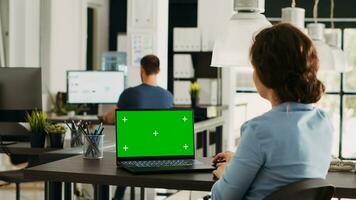
[[[241,141],[213,199],[261,200],[305,178],[325,178],[333,128],[311,104],[283,103],[241,127]]]

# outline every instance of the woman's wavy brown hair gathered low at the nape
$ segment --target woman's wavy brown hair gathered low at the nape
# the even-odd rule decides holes
[[[313,42],[287,23],[263,29],[250,49],[257,76],[280,103],[316,103],[325,92],[317,78],[319,58]]]

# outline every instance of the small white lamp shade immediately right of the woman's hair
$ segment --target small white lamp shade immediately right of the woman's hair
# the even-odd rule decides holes
[[[334,55],[331,51],[331,48],[325,44],[323,41],[317,40],[314,41],[316,51],[319,57],[320,70],[323,71],[333,71],[334,67]]]

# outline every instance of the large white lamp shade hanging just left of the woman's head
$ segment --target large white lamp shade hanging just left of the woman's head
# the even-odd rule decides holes
[[[259,13],[236,13],[215,41],[211,66],[251,68],[254,35],[271,23]]]

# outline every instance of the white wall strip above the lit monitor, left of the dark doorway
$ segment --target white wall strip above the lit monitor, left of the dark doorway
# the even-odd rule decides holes
[[[49,90],[66,91],[66,70],[85,69],[82,57],[82,1],[51,0]],[[45,66],[44,66],[45,67]]]

